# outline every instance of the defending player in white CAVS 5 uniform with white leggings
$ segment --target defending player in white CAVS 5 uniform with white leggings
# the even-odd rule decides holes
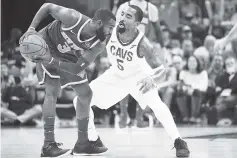
[[[174,141],[176,155],[187,157],[187,143],[180,138],[172,115],[156,89],[165,79],[165,66],[157,57],[158,52],[153,49],[149,40],[136,28],[142,18],[142,10],[134,5],[121,12],[119,24],[113,30],[106,46],[112,66],[90,83],[93,92],[91,105],[108,109],[130,94],[143,109],[148,105],[153,110]],[[74,105],[76,102],[75,98]],[[89,139],[97,138],[91,111]]]

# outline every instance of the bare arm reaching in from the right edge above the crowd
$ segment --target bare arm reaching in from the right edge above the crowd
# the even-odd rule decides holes
[[[229,44],[234,39],[237,39],[237,23],[225,37],[215,42],[214,45],[215,52],[222,53],[226,45]]]

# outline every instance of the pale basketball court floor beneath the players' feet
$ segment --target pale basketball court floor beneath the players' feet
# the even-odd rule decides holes
[[[188,142],[190,158],[237,158],[237,127],[191,126],[179,127],[179,130]],[[175,158],[173,142],[162,127],[98,128],[98,133],[109,148],[107,153],[81,158]],[[56,140],[66,148],[72,148],[76,138],[76,128],[56,129]],[[42,143],[42,128],[1,129],[2,158],[37,158]]]

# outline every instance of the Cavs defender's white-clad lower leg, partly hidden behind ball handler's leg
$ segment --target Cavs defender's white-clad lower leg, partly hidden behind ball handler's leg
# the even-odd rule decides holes
[[[77,105],[77,97],[73,99],[73,106],[76,109]],[[94,112],[92,108],[90,108],[90,116],[89,116],[89,124],[88,124],[88,137],[91,141],[96,141],[99,137],[94,124]]]

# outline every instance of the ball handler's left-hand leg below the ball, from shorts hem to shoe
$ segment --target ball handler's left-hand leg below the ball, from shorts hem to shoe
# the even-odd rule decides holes
[[[41,157],[59,157],[70,154],[69,149],[61,149],[55,142],[54,122],[56,116],[56,101],[60,92],[59,77],[51,78],[41,64],[36,65],[38,80],[45,85],[45,98],[42,106],[44,121],[44,145]],[[47,73],[46,73],[47,71]]]

